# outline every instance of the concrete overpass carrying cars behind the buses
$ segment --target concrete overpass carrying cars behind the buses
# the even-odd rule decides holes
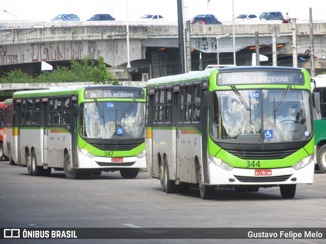
[[[50,65],[69,65],[70,60],[104,57],[108,67],[118,72],[121,79],[141,80],[141,73],[150,77],[178,74],[178,26],[176,23],[129,23],[130,64],[127,66],[126,23],[119,21],[85,22],[1,22],[8,26],[0,30],[0,75],[20,68],[32,75],[41,72],[41,62]],[[310,69],[310,25],[297,21],[297,53],[306,62],[299,67]],[[279,66],[292,66],[292,24],[280,21],[243,21],[235,25],[237,65],[251,65],[255,52],[255,32],[259,33],[260,54],[268,57],[262,65],[271,65],[272,34],[276,30]],[[323,70],[326,53],[326,21],[313,23],[316,69]],[[229,36],[226,34],[230,34]],[[227,36],[227,37],[225,37]],[[218,41],[216,41],[216,38]],[[233,64],[232,24],[191,25],[192,70],[198,70],[199,53],[203,67]],[[218,45],[217,45],[218,43]],[[121,72],[122,71],[122,72]]]

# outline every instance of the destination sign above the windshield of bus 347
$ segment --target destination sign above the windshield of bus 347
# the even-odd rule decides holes
[[[143,99],[145,98],[145,93],[140,89],[94,89],[85,90],[84,97],[86,99],[91,98],[133,98],[133,99]]]

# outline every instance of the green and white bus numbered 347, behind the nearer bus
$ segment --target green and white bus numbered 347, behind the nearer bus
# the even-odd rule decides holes
[[[145,88],[80,86],[15,92],[11,157],[29,175],[102,171],[135,178],[145,159]]]

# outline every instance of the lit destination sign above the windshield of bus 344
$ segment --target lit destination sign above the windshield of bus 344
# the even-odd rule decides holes
[[[232,72],[218,73],[218,85],[253,85],[253,84],[273,84],[273,85],[304,85],[305,79],[302,72]]]

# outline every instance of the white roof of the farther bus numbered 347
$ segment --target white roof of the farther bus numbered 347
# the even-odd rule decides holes
[[[84,89],[140,89],[141,87],[132,87],[132,86],[114,86],[114,85],[90,85],[90,86],[69,86],[69,87],[60,87],[53,89],[44,89],[44,90],[32,90],[32,91],[19,91],[13,94],[13,98],[21,97],[44,97],[44,96],[56,96],[56,95],[73,95],[77,94]]]

